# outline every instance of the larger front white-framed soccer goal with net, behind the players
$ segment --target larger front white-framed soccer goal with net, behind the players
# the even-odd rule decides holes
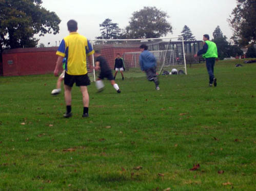
[[[171,72],[173,68],[178,70],[178,74],[187,74],[184,41],[181,37],[111,40],[93,39],[90,40],[90,42],[93,49],[100,51],[102,56],[107,60],[113,73],[117,53],[121,55],[125,65],[125,78],[145,76],[140,69],[141,44],[146,44],[148,51],[155,56],[157,74],[161,75],[165,70]],[[96,75],[95,71],[89,74],[94,81]],[[116,79],[118,78],[121,78],[120,74],[116,76]]]

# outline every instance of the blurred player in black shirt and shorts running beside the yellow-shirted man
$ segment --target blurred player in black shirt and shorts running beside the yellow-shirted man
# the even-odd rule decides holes
[[[100,51],[95,50],[94,56],[96,57],[94,69],[101,70],[101,73],[95,82],[95,85],[98,91],[100,92],[103,90],[104,83],[102,80],[104,78],[107,78],[110,81],[111,85],[114,87],[114,89],[117,91],[117,93],[121,93],[119,86],[114,81],[114,77],[112,75],[111,69],[109,68],[105,58],[101,56]]]

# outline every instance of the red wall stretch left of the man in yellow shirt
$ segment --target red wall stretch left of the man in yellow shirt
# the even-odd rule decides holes
[[[57,47],[12,49],[3,52],[3,76],[53,73]]]

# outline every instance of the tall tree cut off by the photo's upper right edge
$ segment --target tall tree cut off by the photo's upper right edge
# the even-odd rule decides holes
[[[239,38],[240,45],[255,43],[256,1],[237,0],[237,7],[233,9],[231,15],[228,21],[233,28],[233,35]]]

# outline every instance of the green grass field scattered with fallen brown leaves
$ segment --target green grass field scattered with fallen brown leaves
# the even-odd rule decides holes
[[[92,83],[89,118],[77,87],[62,117],[53,75],[0,77],[0,190],[255,190],[256,64],[236,63],[216,63],[217,87],[203,64],[160,91]]]

